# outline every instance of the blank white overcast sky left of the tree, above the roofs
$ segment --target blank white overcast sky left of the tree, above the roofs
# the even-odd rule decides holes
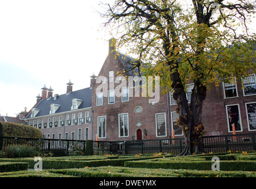
[[[90,86],[111,38],[102,30],[99,2],[0,0],[1,115],[30,110],[44,84],[53,94],[66,93],[69,80],[73,90]]]

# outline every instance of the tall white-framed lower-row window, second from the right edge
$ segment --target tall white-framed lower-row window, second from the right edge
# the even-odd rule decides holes
[[[228,132],[232,132],[232,125],[235,124],[235,131],[242,131],[239,105],[226,105],[228,119]]]

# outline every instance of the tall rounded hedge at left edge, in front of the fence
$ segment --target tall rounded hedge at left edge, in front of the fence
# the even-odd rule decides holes
[[[3,136],[15,136],[24,138],[43,138],[42,132],[38,128],[30,125],[18,123],[1,122],[3,126]]]

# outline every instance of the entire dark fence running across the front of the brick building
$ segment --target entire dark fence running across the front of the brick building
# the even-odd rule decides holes
[[[256,151],[256,133],[239,135],[203,136],[203,148],[209,152]],[[69,155],[72,148],[85,151],[86,141],[64,139],[35,139],[0,136],[0,150],[9,145],[37,146],[41,152],[54,156]],[[184,138],[155,139],[143,141],[93,141],[95,154],[180,154],[185,147]]]

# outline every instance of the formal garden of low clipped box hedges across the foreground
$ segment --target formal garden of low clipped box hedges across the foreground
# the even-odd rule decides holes
[[[220,171],[212,171],[212,157]],[[171,154],[45,157],[35,171],[34,158],[0,158],[0,177],[256,177],[256,152],[177,157]]]

